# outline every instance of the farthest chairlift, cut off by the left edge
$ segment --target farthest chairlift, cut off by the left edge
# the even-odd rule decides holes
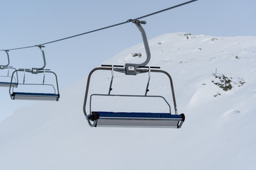
[[[10,64],[9,53],[8,53],[8,50],[4,50],[4,51],[6,52],[8,63],[4,64],[4,65],[0,65],[0,71],[1,72],[6,71],[7,73],[0,75],[0,86],[17,87],[18,84],[17,84],[16,76],[14,77],[14,82],[11,84],[11,72],[14,72],[16,69],[12,66],[9,66],[9,64]]]

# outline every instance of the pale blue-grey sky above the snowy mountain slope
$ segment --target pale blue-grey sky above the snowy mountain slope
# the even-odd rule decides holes
[[[45,0],[1,1],[0,50],[38,45],[137,18],[185,1],[181,0]],[[212,36],[256,36],[253,0],[198,0],[149,16],[144,30],[149,39],[165,33],[187,32]],[[87,77],[91,69],[118,52],[142,42],[136,26],[127,23],[89,35],[46,45],[46,69],[58,74],[61,90]],[[38,47],[9,52],[12,66],[40,67]],[[0,52],[0,64],[6,61]],[[110,63],[111,64],[111,63]],[[84,91],[82,91],[84,93]],[[0,121],[33,101],[11,101],[0,88]],[[61,100],[61,98],[60,98]],[[82,111],[81,111],[82,112]]]

